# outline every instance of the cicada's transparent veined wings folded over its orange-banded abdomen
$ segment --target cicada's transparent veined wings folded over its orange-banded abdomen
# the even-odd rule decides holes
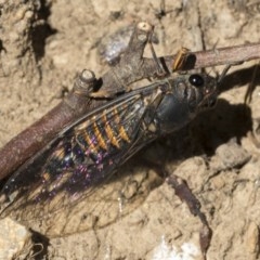
[[[145,144],[145,110],[143,96],[130,95],[64,130],[10,178],[1,192],[1,218],[10,216],[57,236],[104,226],[134,208],[128,203],[121,212],[118,198],[141,198],[147,176],[122,176],[114,182],[112,176]]]

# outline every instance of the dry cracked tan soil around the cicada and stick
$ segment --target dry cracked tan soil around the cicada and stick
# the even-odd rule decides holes
[[[107,72],[104,48],[115,48],[109,36],[122,30],[127,42],[122,28],[135,22],[155,26],[157,55],[181,47],[199,51],[260,40],[258,1],[165,2],[164,13],[159,0],[0,0],[0,146],[61,102],[77,73],[89,68],[101,77]],[[151,144],[118,171],[154,176],[139,159],[145,154],[186,180],[212,230],[208,259],[260,258],[260,150],[250,135],[257,138],[259,128],[258,88],[244,104],[247,87],[260,82],[252,78],[255,69],[258,76],[256,61],[234,66],[213,109]],[[144,199],[130,213],[102,229],[47,236],[49,245],[35,258],[203,259],[202,222],[174,191],[156,182],[140,196]]]

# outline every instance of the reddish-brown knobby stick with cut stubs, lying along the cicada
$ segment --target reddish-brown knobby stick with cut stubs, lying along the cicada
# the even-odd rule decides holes
[[[136,25],[125,55],[102,77],[100,91],[112,96],[128,90],[129,84],[134,81],[156,75],[157,66],[154,60],[143,57],[143,51],[152,31],[153,27],[147,23],[141,22]],[[174,57],[176,55],[160,57],[166,70],[171,72]],[[260,43],[191,52],[183,69],[234,64],[255,58],[260,58]],[[79,78],[76,82],[77,80]],[[88,93],[86,90],[70,92],[44,117],[0,150],[0,180],[47,145],[69,122],[105,102],[105,100],[89,99]]]

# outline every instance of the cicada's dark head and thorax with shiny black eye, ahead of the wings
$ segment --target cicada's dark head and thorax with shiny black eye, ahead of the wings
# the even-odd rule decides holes
[[[161,133],[172,132],[191,121],[199,110],[217,101],[217,80],[207,74],[169,78],[170,90],[156,109],[155,123]]]

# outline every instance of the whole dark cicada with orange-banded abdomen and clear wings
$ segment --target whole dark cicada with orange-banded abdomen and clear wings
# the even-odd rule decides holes
[[[10,178],[0,196],[1,217],[30,226],[34,220],[38,223],[32,227],[49,235],[105,225],[115,216],[96,216],[109,208],[100,202],[113,194],[104,183],[118,167],[147,143],[182,128],[216,99],[216,79],[194,74],[107,102],[64,129]]]

